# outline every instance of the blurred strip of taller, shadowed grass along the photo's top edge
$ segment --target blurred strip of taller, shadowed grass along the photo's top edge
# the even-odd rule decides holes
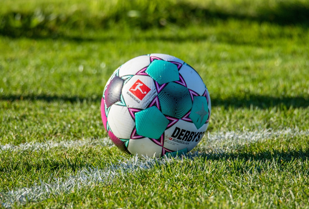
[[[248,19],[280,25],[309,26],[307,0],[3,0],[0,34],[57,37],[71,30],[212,24],[218,19]]]

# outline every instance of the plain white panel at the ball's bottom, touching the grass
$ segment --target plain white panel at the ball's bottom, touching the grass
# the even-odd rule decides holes
[[[159,158],[162,153],[162,147],[152,142],[149,138],[130,139],[128,150],[131,154],[138,154],[138,157],[143,158],[155,155]]]

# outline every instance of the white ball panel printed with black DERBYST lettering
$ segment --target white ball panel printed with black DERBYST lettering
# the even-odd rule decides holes
[[[197,129],[194,123],[179,120],[164,132],[164,147],[169,150],[192,150],[203,137],[208,123]]]

